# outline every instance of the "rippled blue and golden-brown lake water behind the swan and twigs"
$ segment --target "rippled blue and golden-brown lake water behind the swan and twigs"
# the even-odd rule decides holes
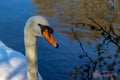
[[[58,1],[54,0],[56,1],[55,4],[52,2],[53,0],[51,1],[46,0],[46,1],[48,3],[42,0],[32,0],[32,1],[31,0],[4,0],[2,1],[0,3],[0,40],[4,42],[8,47],[16,51],[19,51],[25,55],[24,39],[23,39],[24,37],[23,31],[24,31],[25,23],[27,19],[31,16],[42,15],[48,19],[51,27],[54,29],[53,35],[59,44],[59,48],[54,48],[44,38],[38,39],[38,44],[37,44],[38,45],[38,48],[37,48],[38,68],[44,80],[73,80],[69,76],[69,73],[75,72],[75,69],[76,69],[75,66],[80,66],[80,64],[82,64],[83,66],[84,62],[87,62],[87,61],[89,62],[88,57],[83,60],[80,59],[82,58],[80,57],[80,55],[81,54],[85,55],[85,52],[87,52],[88,56],[90,56],[93,60],[95,60],[97,64],[103,64],[102,61],[101,63],[99,62],[98,57],[100,56],[97,54],[97,51],[96,51],[97,48],[100,48],[100,46],[96,47],[96,45],[98,43],[103,43],[102,41],[104,40],[104,38],[100,36],[102,33],[100,33],[99,31],[88,30],[90,26],[87,29],[86,28],[83,29],[83,27],[78,26],[79,24],[73,24],[73,23],[71,23],[71,25],[68,24],[70,22],[75,22],[75,21],[76,23],[77,21],[79,23],[81,19],[86,20],[86,15],[88,15],[88,12],[84,12],[83,10],[83,13],[81,11],[81,14],[83,15],[79,16],[78,14],[79,10],[75,10],[75,9],[79,9],[80,6],[72,6],[72,8],[67,7],[71,5],[79,5],[80,0],[74,0],[75,4],[73,4],[72,2],[70,2],[70,4],[67,4],[69,2],[69,1],[67,2],[67,0],[64,1],[63,3],[59,2],[60,0]],[[103,6],[104,4],[102,3],[100,5]],[[91,10],[92,8],[90,8],[89,6],[87,5],[86,9],[88,8],[88,10]],[[100,7],[100,6],[98,5],[97,7]],[[97,9],[97,8],[93,8],[93,11],[94,9]],[[107,8],[105,7],[104,9],[106,10]],[[110,8],[110,9],[113,9],[113,8]],[[101,13],[101,15],[104,15],[104,17],[99,16],[100,14],[99,11],[98,12],[95,11],[95,12],[96,12],[95,15],[98,15],[97,17],[94,16],[93,12],[89,12],[89,15],[95,17],[94,18],[95,21],[97,21],[101,26],[105,26],[105,27],[107,26],[105,30],[107,30],[108,26],[110,26],[109,22],[112,22],[112,20],[116,18],[116,15],[114,14],[114,12],[111,13],[111,11],[109,10],[108,11],[106,10],[106,13],[108,12],[108,15],[104,15],[104,13],[103,14]],[[76,15],[73,15],[73,14],[76,14]],[[94,22],[94,20],[91,20],[91,21]],[[90,24],[91,21],[86,20],[86,23]],[[119,19],[116,19],[116,23],[111,25],[114,27],[115,30],[117,30],[117,33],[119,35],[120,29],[119,29],[118,21]],[[73,33],[70,32],[70,30],[72,30],[73,28],[76,31],[77,33],[76,35],[78,35],[78,38],[80,38],[79,40],[81,40],[82,46],[85,50],[81,49],[80,42],[76,41],[75,38],[73,39],[73,37],[68,36],[68,35],[73,35]],[[94,26],[92,26],[92,28],[94,29]],[[68,34],[68,35],[65,35],[65,34]],[[110,34],[112,34],[112,32]],[[115,38],[112,35],[111,37]],[[118,42],[119,40],[120,39],[118,39]],[[105,40],[105,41],[107,42],[108,40]],[[106,50],[106,52],[100,52],[100,53],[105,53],[102,56],[106,56],[105,59],[108,63],[110,62],[112,64],[112,61],[114,63],[115,60],[116,62],[120,62],[119,54],[117,54],[119,53],[119,51],[117,52],[117,48],[113,43],[109,43],[107,47],[104,46],[103,48],[107,49],[108,52]],[[112,58],[110,58],[108,53],[110,56],[112,56]],[[117,58],[114,54],[117,54]],[[105,60],[103,60],[103,62],[104,61]],[[97,71],[97,69],[99,69],[99,65],[97,64],[96,64],[97,68],[94,71]],[[108,64],[108,65],[112,66],[111,64]],[[108,65],[107,67],[106,65],[102,66],[103,72],[104,70],[108,71],[109,69]],[[117,70],[119,70],[119,66],[120,66],[119,63],[113,64],[113,65],[116,66],[115,68]],[[94,66],[94,61],[92,66]],[[86,68],[86,67],[83,67],[83,68]],[[93,68],[91,68],[90,70],[92,69]],[[114,72],[118,73],[116,69],[113,71],[113,73]]]

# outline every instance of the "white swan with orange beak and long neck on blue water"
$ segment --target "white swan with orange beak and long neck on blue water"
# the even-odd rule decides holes
[[[36,40],[37,36],[44,37],[57,48],[52,33],[53,29],[44,17],[33,16],[28,19],[24,29],[26,57],[0,41],[0,80],[43,80],[38,75]]]

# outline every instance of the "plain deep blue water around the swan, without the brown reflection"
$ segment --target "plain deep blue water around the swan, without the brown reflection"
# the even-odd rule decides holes
[[[35,6],[29,0],[0,2],[0,40],[23,54],[23,29],[26,20],[35,15],[33,14]],[[44,80],[72,80],[68,74],[80,63],[79,45],[57,31],[54,36],[60,45],[58,49],[53,48],[43,38],[38,40],[39,72]]]

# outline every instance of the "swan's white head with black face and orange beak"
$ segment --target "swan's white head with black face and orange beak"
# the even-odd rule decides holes
[[[38,37],[44,37],[55,48],[58,48],[58,44],[53,37],[54,30],[50,27],[48,21],[42,16],[31,17],[26,26],[30,27],[31,33]]]

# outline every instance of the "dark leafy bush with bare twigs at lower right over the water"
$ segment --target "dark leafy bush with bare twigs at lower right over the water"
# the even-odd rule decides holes
[[[92,58],[88,55],[89,52],[87,52],[86,49],[83,47],[82,42],[78,39],[78,36],[75,34],[75,31],[72,28],[73,35],[79,42],[79,45],[83,51],[83,54],[80,55],[79,58],[82,61],[87,59],[87,61],[83,62],[80,66],[75,67],[75,72],[71,72],[70,76],[73,77],[74,80],[96,80],[96,78],[100,80],[118,80],[120,78],[120,36],[114,32],[112,25],[110,25],[109,30],[107,30],[104,29],[103,26],[98,24],[94,19],[89,19],[91,19],[96,25],[98,25],[99,28],[91,24],[82,24],[88,25],[92,30],[101,32],[103,40],[95,47],[96,52],[94,53],[97,53],[96,58]],[[111,50],[109,50],[108,48],[109,43],[113,43],[117,46],[117,50],[115,53],[110,54]]]

